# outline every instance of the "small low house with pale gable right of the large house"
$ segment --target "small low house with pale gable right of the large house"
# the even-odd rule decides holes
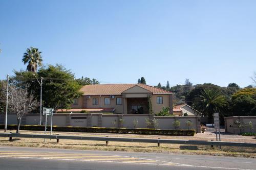
[[[184,105],[177,105],[174,107],[174,115],[184,116],[187,113],[188,116],[196,116],[199,113],[191,108],[191,106],[184,104]]]

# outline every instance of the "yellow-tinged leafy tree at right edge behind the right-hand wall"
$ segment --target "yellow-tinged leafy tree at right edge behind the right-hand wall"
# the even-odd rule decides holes
[[[256,115],[256,88],[244,88],[232,95],[232,112],[236,116]]]

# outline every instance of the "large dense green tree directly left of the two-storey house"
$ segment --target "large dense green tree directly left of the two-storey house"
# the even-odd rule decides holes
[[[38,71],[44,78],[42,88],[43,106],[59,109],[70,108],[74,98],[81,95],[81,85],[74,80],[74,74],[62,65],[48,65]],[[38,91],[39,92],[39,91]]]

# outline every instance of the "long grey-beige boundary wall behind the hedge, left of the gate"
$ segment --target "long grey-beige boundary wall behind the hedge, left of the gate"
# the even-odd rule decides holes
[[[4,124],[4,114],[0,114],[0,124]],[[200,117],[157,117],[154,114],[102,114],[102,113],[56,113],[53,115],[54,126],[72,126],[72,127],[105,127],[105,128],[154,128],[146,124],[146,119],[156,119],[157,129],[175,130],[173,123],[180,121],[179,129],[196,130],[200,133]],[[45,116],[42,117],[45,124]],[[187,127],[186,122],[192,122],[191,127]],[[137,122],[138,124],[134,124]],[[17,124],[16,114],[8,114],[8,124]],[[51,116],[47,117],[47,124],[51,124]],[[26,114],[23,116],[22,125],[39,125],[39,114]]]

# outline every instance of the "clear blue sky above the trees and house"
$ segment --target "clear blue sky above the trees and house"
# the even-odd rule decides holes
[[[252,83],[256,1],[0,0],[0,79],[26,48],[101,83]]]

